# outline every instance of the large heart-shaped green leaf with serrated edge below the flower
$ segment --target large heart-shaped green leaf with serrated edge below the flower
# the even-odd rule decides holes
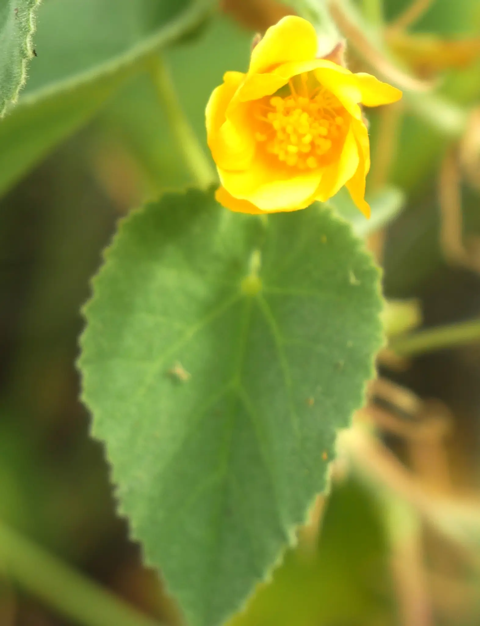
[[[381,308],[371,257],[326,208],[266,220],[192,190],[121,224],[86,307],[83,398],[187,623],[221,623],[294,540]]]

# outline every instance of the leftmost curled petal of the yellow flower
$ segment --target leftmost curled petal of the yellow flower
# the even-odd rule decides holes
[[[228,114],[243,78],[241,72],[227,72],[224,84],[213,91],[206,108],[208,146],[216,164],[229,170],[244,170],[255,153],[256,144],[245,105],[231,111],[232,119]]]

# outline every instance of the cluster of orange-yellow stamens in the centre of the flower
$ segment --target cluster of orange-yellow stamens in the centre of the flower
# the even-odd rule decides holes
[[[296,93],[289,81],[291,94],[262,101],[262,130],[255,133],[257,141],[265,143],[267,153],[290,167],[316,168],[324,162],[346,131],[340,115],[344,109],[339,101],[322,87],[307,97]]]

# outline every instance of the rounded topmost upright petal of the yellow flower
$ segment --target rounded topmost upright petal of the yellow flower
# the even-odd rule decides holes
[[[262,73],[287,61],[308,61],[317,54],[317,34],[312,24],[295,15],[271,26],[252,50],[249,73]]]

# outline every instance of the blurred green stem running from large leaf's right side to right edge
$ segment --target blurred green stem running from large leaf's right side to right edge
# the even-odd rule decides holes
[[[480,341],[480,320],[441,326],[428,331],[398,337],[389,347],[399,356],[415,356],[434,350],[463,346]]]

